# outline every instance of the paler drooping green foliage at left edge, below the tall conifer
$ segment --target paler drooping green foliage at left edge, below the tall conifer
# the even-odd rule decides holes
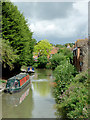
[[[4,68],[8,65],[10,70],[14,68],[13,63],[15,63],[16,59],[18,59],[18,55],[16,55],[16,50],[10,46],[9,41],[2,40],[0,42],[0,53],[2,57],[2,65]]]

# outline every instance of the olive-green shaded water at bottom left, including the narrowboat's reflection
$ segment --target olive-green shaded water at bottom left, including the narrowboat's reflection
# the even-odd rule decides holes
[[[32,118],[34,101],[30,84],[15,94],[3,94],[2,99],[3,118]]]

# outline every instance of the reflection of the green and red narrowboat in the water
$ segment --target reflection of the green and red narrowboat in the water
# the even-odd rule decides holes
[[[21,92],[18,92],[16,94],[12,94],[12,95],[7,94],[7,96],[6,96],[7,104],[12,104],[13,106],[18,106],[29,95],[29,91],[30,91],[30,85],[28,85],[24,90],[22,90]]]

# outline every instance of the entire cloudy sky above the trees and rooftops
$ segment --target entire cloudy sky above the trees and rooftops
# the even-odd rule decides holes
[[[13,0],[11,0],[13,2]],[[33,38],[52,44],[74,43],[88,36],[88,2],[14,2],[28,20]]]

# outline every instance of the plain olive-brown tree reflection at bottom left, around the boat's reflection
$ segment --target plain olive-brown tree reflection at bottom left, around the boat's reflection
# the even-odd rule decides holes
[[[22,92],[18,94],[18,98],[21,97],[22,95],[21,93]],[[24,90],[24,93],[25,93],[25,90]],[[3,95],[3,98],[2,98],[3,99],[2,101],[3,118],[32,118],[32,110],[34,107],[33,98],[32,98],[32,90],[30,89],[29,94],[26,96],[26,98],[21,102],[21,104],[16,104],[16,106],[15,104],[12,104],[13,100],[15,99],[14,97],[15,94],[12,94],[13,97],[12,95],[9,95],[9,94]],[[10,99],[10,96],[11,96],[11,99]],[[17,103],[18,102],[17,99],[15,100]]]

